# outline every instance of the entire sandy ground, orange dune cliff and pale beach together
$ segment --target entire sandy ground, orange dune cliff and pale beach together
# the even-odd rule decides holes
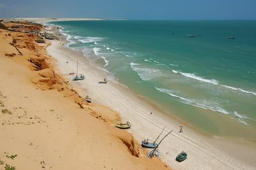
[[[65,38],[44,44],[29,34],[0,31],[0,169],[256,168],[255,144],[184,124],[68,49]],[[85,79],[75,82],[70,73],[76,73],[77,59]],[[104,78],[108,84],[99,84]],[[120,121],[130,121],[131,129],[113,127]],[[161,137],[173,132],[159,146],[160,159],[147,158],[150,150],[141,148],[141,140],[154,141],[164,127]],[[188,159],[177,162],[181,151]]]

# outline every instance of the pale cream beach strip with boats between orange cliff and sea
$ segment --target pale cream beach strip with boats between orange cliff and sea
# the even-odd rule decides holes
[[[111,79],[109,73],[95,68],[81,52],[67,49],[63,42],[52,41],[47,52],[56,59],[56,66],[62,75],[71,80],[76,72],[77,58],[79,73],[86,76],[85,81],[72,82],[74,88],[82,96],[89,95],[93,102],[110,107],[120,113],[123,121],[130,121],[129,130],[137,141],[150,139],[154,141],[164,126],[165,134],[172,134],[159,147],[160,158],[173,169],[254,169],[252,157],[255,150],[243,143],[230,143],[224,139],[214,139],[184,125],[184,133],[179,133],[180,121],[167,116],[161,109],[151,104],[143,97],[136,95],[127,87],[114,81],[99,84],[105,77]],[[153,112],[150,115],[150,112]],[[163,134],[164,135],[164,134]],[[236,148],[236,149],[235,149]],[[180,151],[188,151],[189,158],[185,162],[175,161]],[[235,151],[236,150],[236,151]],[[254,160],[255,161],[255,160]]]

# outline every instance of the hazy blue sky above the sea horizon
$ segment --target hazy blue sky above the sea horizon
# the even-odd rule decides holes
[[[256,0],[0,0],[1,17],[256,19]]]

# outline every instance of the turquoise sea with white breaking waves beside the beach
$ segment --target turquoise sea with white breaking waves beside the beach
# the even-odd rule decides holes
[[[51,24],[63,27],[69,48],[180,120],[209,134],[256,139],[256,21]]]

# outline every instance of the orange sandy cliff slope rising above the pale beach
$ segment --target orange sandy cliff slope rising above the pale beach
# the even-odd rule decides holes
[[[47,45],[0,29],[0,169],[168,169],[113,127],[117,112],[71,88]]]

